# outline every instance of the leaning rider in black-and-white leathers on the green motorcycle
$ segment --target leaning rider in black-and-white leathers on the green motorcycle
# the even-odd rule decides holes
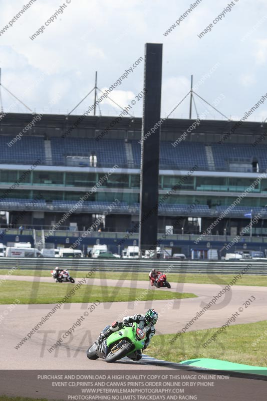
[[[145,345],[143,348],[143,349],[146,349],[148,347],[148,345],[150,344],[150,341],[151,341],[153,335],[156,332],[154,325],[157,323],[157,320],[158,320],[158,313],[154,309],[149,309],[145,313],[145,315],[125,316],[122,319],[122,322],[115,320],[111,326],[106,326],[99,335],[98,343],[102,342],[105,338],[107,338],[114,331],[118,331],[118,330],[122,329],[125,324],[136,322],[136,323],[138,323],[138,327],[141,330],[145,329],[144,331],[146,331]],[[138,349],[138,350],[132,352],[131,354],[129,354],[128,357],[133,360],[139,360],[142,358],[142,352],[140,349]]]

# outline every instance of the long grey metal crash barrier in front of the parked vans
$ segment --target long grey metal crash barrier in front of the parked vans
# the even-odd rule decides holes
[[[248,266],[249,265],[249,266]],[[69,270],[87,271],[91,269],[114,272],[149,272],[152,268],[169,273],[230,274],[239,273],[248,267],[248,274],[267,275],[267,263],[250,260],[242,262],[221,261],[170,261],[170,260],[99,260],[61,258],[0,258],[0,269],[53,269],[55,266]],[[14,273],[16,274],[16,273]]]

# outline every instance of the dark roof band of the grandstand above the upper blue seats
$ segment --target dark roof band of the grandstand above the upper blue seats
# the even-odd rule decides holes
[[[36,113],[37,114],[37,113]],[[5,134],[4,128],[8,127],[18,127],[24,128],[27,126],[34,118],[35,114],[31,113],[8,113],[4,118],[0,119],[0,133]],[[66,130],[77,123],[77,129],[74,129],[68,136],[84,136],[92,137],[95,136],[93,130],[104,130],[109,127],[110,123],[118,118],[117,116],[86,116],[81,120],[78,115],[59,115],[59,114],[44,114],[41,121],[36,122],[35,128],[27,131],[25,135],[44,135],[50,136],[61,136]],[[184,132],[192,124],[195,119],[167,119],[162,124],[161,131],[164,132],[162,135],[162,140],[172,140],[168,138],[169,134],[173,135],[177,132]],[[186,140],[197,139],[197,135],[205,134],[225,134],[230,131],[230,129],[236,124],[236,121],[225,121],[225,120],[201,120],[200,125],[197,126],[191,134],[188,134]],[[123,117],[122,120],[110,128],[112,131],[112,137],[115,138],[116,131],[118,138],[122,138],[118,131],[137,131],[133,133],[132,139],[140,139],[140,130],[142,126],[141,118]],[[264,124],[267,127],[267,124]],[[92,131],[90,131],[92,130]],[[242,122],[241,126],[235,130],[235,134],[238,135],[261,135],[263,133],[263,124],[260,122],[245,121]],[[12,134],[9,130],[7,134]],[[235,135],[231,135],[232,138]],[[174,138],[173,138],[174,139]],[[208,138],[210,142],[217,141],[217,138]],[[228,138],[227,138],[228,140]],[[199,140],[197,140],[199,141]]]

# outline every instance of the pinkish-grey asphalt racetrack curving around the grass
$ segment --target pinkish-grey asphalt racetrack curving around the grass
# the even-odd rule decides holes
[[[0,276],[17,281],[39,280],[31,276]],[[52,282],[50,277],[40,278],[41,282]],[[76,283],[81,279],[76,279]],[[124,281],[123,280],[100,280],[89,279],[88,285],[116,286],[118,291],[121,286],[150,289],[146,281]],[[18,283],[19,285],[19,283]],[[55,283],[55,291],[58,285]],[[73,284],[75,285],[75,284]],[[45,316],[55,305],[15,305],[9,310],[8,305],[0,305],[1,327],[1,358],[2,369],[110,369],[110,364],[103,360],[90,361],[85,351],[98,337],[101,330],[114,320],[122,316],[134,313],[143,313],[146,309],[153,307],[159,313],[156,325],[157,334],[175,334],[189,322],[197,312],[224,287],[225,284],[181,284],[171,283],[171,290],[167,288],[155,291],[190,292],[196,294],[197,298],[181,300],[155,300],[131,302],[106,302],[98,305],[90,312],[88,307],[92,303],[64,304],[28,339],[19,349],[15,346],[27,336],[33,327]],[[243,305],[248,298],[255,297],[255,301],[248,307]],[[267,320],[267,292],[265,287],[233,286],[231,290],[222,294],[216,304],[205,311],[199,318],[188,326],[186,331],[220,327],[233,313],[241,307],[239,316],[231,324],[252,323]],[[85,316],[87,313],[87,316]],[[63,340],[61,345],[51,352],[48,351],[62,335],[70,329],[77,319],[80,318],[81,325],[75,328],[74,333]],[[83,319],[82,319],[83,318]],[[178,362],[178,361],[177,361]],[[141,360],[141,363],[144,363]],[[124,369],[125,364],[115,363],[116,369]],[[136,363],[127,364],[127,369],[136,369]],[[167,368],[167,367],[165,367]],[[143,369],[159,369],[151,363],[143,364]],[[162,369],[162,367],[160,367]]]

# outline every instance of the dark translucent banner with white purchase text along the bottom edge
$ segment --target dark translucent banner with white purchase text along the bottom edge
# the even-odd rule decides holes
[[[141,367],[141,366],[140,366]],[[1,370],[0,394],[33,399],[265,401],[267,377],[155,370]]]

